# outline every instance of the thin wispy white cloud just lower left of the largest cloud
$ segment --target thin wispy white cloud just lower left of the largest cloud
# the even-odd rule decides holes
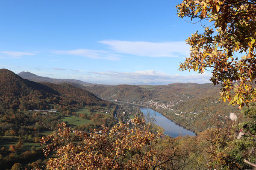
[[[69,51],[53,51],[55,54],[63,54],[63,55],[75,55],[75,56],[82,56],[94,59],[109,59],[109,60],[119,60],[119,55],[111,54],[108,51],[102,50],[90,50],[90,49],[76,49],[76,50],[69,50]]]

